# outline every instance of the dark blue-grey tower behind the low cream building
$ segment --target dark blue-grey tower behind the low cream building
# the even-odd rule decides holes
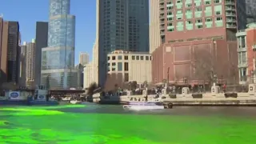
[[[149,51],[148,0],[97,0],[99,84],[106,82],[106,54],[114,50]]]

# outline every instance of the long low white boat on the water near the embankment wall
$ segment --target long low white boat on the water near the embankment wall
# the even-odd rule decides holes
[[[122,106],[124,109],[128,110],[162,110],[165,106],[161,102],[133,102],[130,105]]]

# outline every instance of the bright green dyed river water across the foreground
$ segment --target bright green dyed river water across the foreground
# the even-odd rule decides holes
[[[235,114],[237,108],[226,113],[201,107],[140,114],[109,107],[0,107],[0,144],[256,143],[256,108],[242,115]]]

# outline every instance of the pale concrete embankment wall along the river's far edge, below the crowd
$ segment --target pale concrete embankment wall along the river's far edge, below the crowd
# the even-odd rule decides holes
[[[94,97],[94,102],[119,102],[120,104],[130,101],[130,98],[144,100],[145,95],[126,95],[102,99]],[[148,100],[154,99],[155,95],[148,95]],[[256,94],[231,93],[231,94],[162,94],[162,102],[172,102],[174,106],[256,106]]]

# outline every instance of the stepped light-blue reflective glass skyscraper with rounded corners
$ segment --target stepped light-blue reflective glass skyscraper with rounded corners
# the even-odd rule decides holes
[[[77,86],[74,68],[75,17],[70,0],[50,0],[48,46],[42,48],[41,83],[50,89]]]

